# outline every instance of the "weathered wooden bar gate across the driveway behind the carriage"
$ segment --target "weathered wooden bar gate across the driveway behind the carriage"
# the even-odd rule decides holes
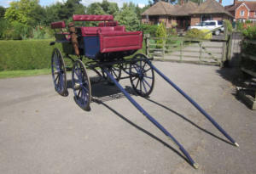
[[[162,61],[189,62],[199,65],[220,65],[230,57],[230,36],[224,24],[224,36],[220,39],[191,39],[186,37],[150,37],[145,34],[146,54]],[[215,29],[213,31],[216,31]],[[212,32],[212,31],[211,31]],[[206,33],[207,34],[207,33]],[[163,40],[162,43],[150,43]],[[168,44],[168,42],[175,42]],[[206,44],[210,42],[210,44]],[[212,44],[217,43],[217,44]],[[199,48],[199,50],[198,50]],[[215,50],[210,50],[215,49]],[[188,54],[189,53],[189,54]]]

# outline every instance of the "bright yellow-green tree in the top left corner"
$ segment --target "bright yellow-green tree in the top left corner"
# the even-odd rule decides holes
[[[30,24],[32,14],[36,11],[39,0],[20,0],[9,3],[10,7],[6,10],[4,17],[10,22],[17,21],[21,24]]]

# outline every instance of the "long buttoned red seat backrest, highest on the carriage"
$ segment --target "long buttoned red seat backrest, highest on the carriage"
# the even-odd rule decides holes
[[[73,21],[113,21],[113,15],[74,14]]]

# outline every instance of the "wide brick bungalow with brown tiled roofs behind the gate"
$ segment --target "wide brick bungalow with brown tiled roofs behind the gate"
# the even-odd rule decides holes
[[[216,0],[207,0],[205,3],[184,3],[172,5],[171,3],[158,2],[143,12],[142,24],[158,24],[162,20],[166,22],[166,27],[171,28],[173,23],[177,23],[177,29],[186,30],[189,25],[195,25],[205,20],[231,20],[233,15],[226,11]]]

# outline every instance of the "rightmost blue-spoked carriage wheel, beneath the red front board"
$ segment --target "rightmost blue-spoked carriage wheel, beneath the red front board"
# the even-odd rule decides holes
[[[154,70],[148,65],[148,57],[143,53],[137,53],[132,59],[145,59],[131,64],[129,68],[131,86],[135,92],[147,97],[154,88]]]

